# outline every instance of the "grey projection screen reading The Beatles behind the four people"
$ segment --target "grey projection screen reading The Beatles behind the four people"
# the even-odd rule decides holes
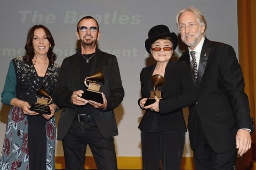
[[[35,24],[50,29],[55,40],[57,63],[76,52],[76,25],[83,16],[91,15],[99,22],[101,37],[99,48],[116,55],[125,97],[115,109],[119,135],[115,137],[117,156],[141,156],[139,121],[143,112],[140,98],[139,74],[142,67],[152,64],[145,49],[148,31],[157,24],[167,25],[179,35],[175,18],[179,10],[188,6],[198,8],[207,21],[206,37],[234,47],[238,57],[237,2],[234,0],[45,0],[2,1],[0,6],[0,89],[4,87],[9,63],[15,56],[24,55],[27,32]],[[182,43],[175,50],[179,57],[186,50]],[[9,106],[1,104],[0,146],[4,141]],[[59,117],[57,113],[57,121]],[[185,118],[188,113],[185,109]],[[63,156],[61,141],[57,142],[56,156]],[[88,156],[91,152],[87,152]],[[183,156],[191,150],[186,133]]]

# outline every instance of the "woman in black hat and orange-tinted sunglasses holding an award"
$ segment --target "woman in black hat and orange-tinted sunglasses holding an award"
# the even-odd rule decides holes
[[[139,125],[144,170],[159,169],[160,160],[163,170],[180,169],[187,131],[182,108],[194,104],[197,97],[188,65],[170,61],[177,45],[177,35],[166,25],[151,28],[145,41],[156,64],[144,67],[140,73],[142,98],[138,104],[146,110]],[[157,87],[162,99],[155,96],[155,102],[146,106],[154,89],[151,77],[156,74],[165,80]]]

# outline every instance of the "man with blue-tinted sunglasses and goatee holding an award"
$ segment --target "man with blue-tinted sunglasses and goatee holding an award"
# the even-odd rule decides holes
[[[114,108],[124,97],[117,58],[97,48],[99,24],[92,16],[79,20],[76,36],[81,48],[63,60],[54,94],[54,102],[63,108],[57,139],[62,140],[67,170],[84,169],[87,145],[98,169],[116,170]],[[103,101],[92,100],[89,96],[97,94],[88,92],[85,86],[85,79],[98,73],[99,79],[92,83],[101,85]]]

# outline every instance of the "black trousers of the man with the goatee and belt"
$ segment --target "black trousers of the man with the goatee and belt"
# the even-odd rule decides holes
[[[117,170],[114,138],[103,138],[95,125],[74,121],[62,145],[66,170],[84,170],[87,145],[92,151],[97,169]]]

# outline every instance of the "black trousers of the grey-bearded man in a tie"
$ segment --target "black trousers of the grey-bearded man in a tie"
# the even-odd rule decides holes
[[[196,170],[233,170],[236,164],[236,148],[223,153],[214,152],[207,141],[202,125],[197,119],[194,162]]]

